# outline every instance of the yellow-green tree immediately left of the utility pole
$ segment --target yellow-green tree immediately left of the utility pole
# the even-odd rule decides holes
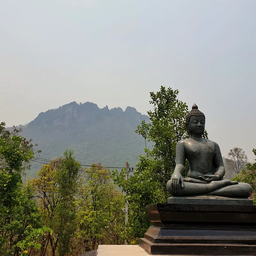
[[[123,244],[124,195],[111,182],[110,170],[100,163],[84,169],[79,193],[79,253],[95,250],[98,244]]]

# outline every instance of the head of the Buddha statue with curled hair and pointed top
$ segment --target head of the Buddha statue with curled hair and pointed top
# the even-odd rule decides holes
[[[204,126],[205,126],[205,116],[196,104],[192,106],[192,110],[186,116],[186,128],[188,130],[188,135],[195,137],[204,137]]]

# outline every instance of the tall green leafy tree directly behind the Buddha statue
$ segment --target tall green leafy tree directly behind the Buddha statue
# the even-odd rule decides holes
[[[185,117],[188,113],[186,103],[177,98],[179,91],[161,86],[159,92],[150,92],[153,111],[148,111],[150,123],[145,121],[137,127],[136,133],[142,135],[145,142],[152,141],[152,149],[145,148],[145,156],[140,155],[140,162],[134,175],[125,180],[126,170],[112,172],[113,180],[122,187],[128,196],[128,224],[125,236],[131,244],[138,243],[150,223],[147,220],[145,206],[166,202],[169,196],[166,183],[175,168],[176,144],[187,137]],[[186,162],[184,176],[188,173]]]

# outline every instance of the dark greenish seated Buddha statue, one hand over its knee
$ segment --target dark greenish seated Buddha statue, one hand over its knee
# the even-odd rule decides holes
[[[172,196],[213,195],[247,198],[252,186],[247,183],[224,180],[225,168],[216,142],[204,136],[205,116],[196,104],[186,116],[189,138],[180,140],[176,146],[176,166],[167,190]],[[189,162],[187,178],[181,174],[186,159]]]

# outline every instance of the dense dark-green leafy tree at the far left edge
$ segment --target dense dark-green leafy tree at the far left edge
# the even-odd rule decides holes
[[[40,224],[33,195],[24,189],[21,173],[30,167],[34,156],[32,140],[19,135],[19,130],[5,129],[0,124],[0,252],[18,255],[16,243],[25,238],[31,226]]]

